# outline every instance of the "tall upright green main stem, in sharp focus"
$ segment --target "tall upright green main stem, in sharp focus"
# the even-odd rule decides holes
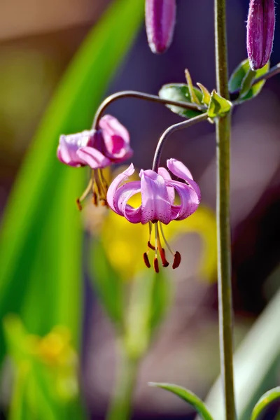
[[[225,0],[215,0],[215,47],[217,90],[222,97],[229,99]],[[216,120],[216,151],[221,377],[225,397],[225,419],[235,420],[230,250],[230,115]]]

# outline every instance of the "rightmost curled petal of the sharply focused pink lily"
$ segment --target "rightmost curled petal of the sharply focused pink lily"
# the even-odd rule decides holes
[[[196,191],[179,181],[169,181],[168,185],[172,185],[180,197],[180,205],[172,206],[172,220],[183,220],[193,214],[200,204],[200,197]]]

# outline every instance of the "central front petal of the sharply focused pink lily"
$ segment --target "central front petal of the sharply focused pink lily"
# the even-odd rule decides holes
[[[148,169],[141,170],[141,223],[161,221],[169,223],[172,220],[171,204],[167,193],[165,179]]]

